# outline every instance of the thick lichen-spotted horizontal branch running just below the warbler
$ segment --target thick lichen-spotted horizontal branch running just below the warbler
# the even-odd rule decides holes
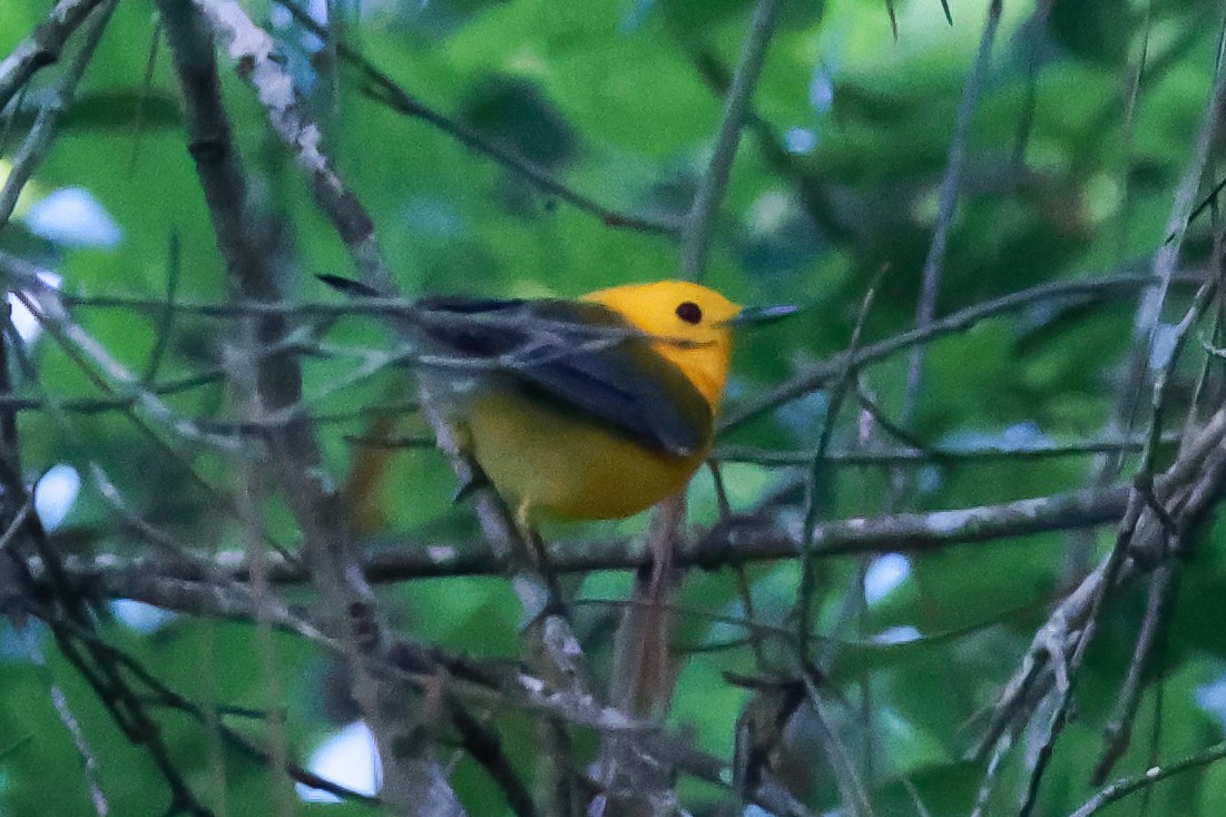
[[[875,518],[841,519],[818,524],[813,530],[815,559],[869,552],[917,552],[960,544],[991,543],[1052,530],[1089,528],[1119,521],[1128,489],[1070,491],[955,511],[899,513]],[[801,556],[799,521],[779,528],[753,517],[734,517],[704,535],[679,543],[676,565],[717,570],[756,561]],[[604,570],[645,570],[651,554],[623,539],[582,544],[560,544],[550,554],[549,567],[557,573],[588,573]],[[484,549],[422,541],[387,543],[368,554],[362,571],[375,584],[440,578],[446,576],[501,576],[506,556]],[[31,570],[43,576],[39,563]],[[75,583],[102,598],[132,598],[169,609],[202,615],[243,617],[248,615],[243,583],[250,568],[242,552],[223,552],[212,560],[146,556],[123,559],[98,556],[69,560]],[[268,555],[268,581],[302,584],[311,579],[299,562]],[[218,587],[211,576],[224,576],[237,584]],[[242,592],[239,592],[242,590]]]

